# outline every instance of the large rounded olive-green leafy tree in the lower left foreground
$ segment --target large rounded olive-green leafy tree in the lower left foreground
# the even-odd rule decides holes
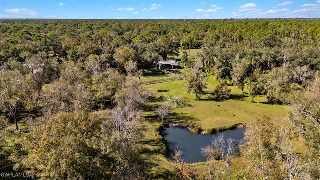
[[[23,161],[32,176],[43,178],[111,177],[112,159],[103,154],[99,137],[102,121],[84,112],[60,113],[25,137],[29,150]]]

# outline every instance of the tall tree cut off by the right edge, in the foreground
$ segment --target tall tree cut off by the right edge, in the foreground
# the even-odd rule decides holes
[[[310,88],[292,94],[289,104],[290,120],[298,134],[306,139],[308,151],[312,154],[312,176],[320,177],[320,77],[317,75]]]

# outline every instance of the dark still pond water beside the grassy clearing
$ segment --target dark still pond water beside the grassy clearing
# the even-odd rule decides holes
[[[176,147],[183,149],[183,160],[186,163],[205,162],[206,158],[201,153],[201,148],[212,144],[212,140],[223,133],[225,140],[233,138],[237,143],[244,137],[245,128],[236,128],[216,134],[197,134],[181,126],[169,126],[164,130],[164,139],[168,145],[168,154],[175,151]]]

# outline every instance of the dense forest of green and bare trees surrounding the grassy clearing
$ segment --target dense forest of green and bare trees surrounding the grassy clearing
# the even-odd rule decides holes
[[[1,19],[0,30],[1,172],[33,179],[160,178],[147,173],[141,155],[143,114],[153,107],[140,78],[157,71],[160,59],[174,59],[195,100],[213,78],[218,97],[236,86],[251,102],[264,95],[268,104],[287,107],[285,127],[269,117],[247,126],[241,146],[247,168],[237,179],[320,178],[319,19]],[[190,49],[199,53],[190,56]],[[164,100],[172,103],[154,110],[158,135],[172,104],[183,105],[179,97]],[[296,136],[307,152],[294,150]],[[231,178],[233,157],[221,146],[204,152],[208,175],[183,163],[177,149],[174,174],[161,178]]]

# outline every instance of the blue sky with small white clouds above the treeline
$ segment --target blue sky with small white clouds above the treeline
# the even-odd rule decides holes
[[[0,18],[320,18],[320,0],[0,0]]]

